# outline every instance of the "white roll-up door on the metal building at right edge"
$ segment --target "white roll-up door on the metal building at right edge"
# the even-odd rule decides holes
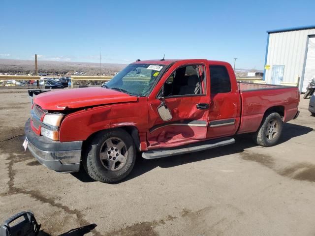
[[[315,36],[309,38],[302,92],[306,92],[306,87],[313,78],[315,78]]]

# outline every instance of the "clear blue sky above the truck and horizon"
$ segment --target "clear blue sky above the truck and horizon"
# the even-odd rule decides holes
[[[0,58],[217,59],[262,69],[266,30],[315,25],[314,0],[0,0]]]

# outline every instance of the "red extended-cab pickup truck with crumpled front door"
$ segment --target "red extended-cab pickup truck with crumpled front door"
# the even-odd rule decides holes
[[[69,173],[83,166],[102,182],[153,159],[233,144],[252,133],[269,147],[298,116],[297,87],[238,83],[227,62],[137,60],[103,87],[49,91],[33,99],[25,125],[33,156]]]

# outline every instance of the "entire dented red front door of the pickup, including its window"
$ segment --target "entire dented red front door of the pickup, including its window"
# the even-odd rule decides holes
[[[206,89],[208,68],[206,62],[198,62],[175,63],[158,83],[160,89],[150,95],[149,149],[185,145],[206,138],[210,104]],[[160,111],[169,114],[163,116]]]

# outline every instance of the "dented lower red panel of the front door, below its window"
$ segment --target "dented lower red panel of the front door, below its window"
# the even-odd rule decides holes
[[[147,134],[149,146],[205,139],[209,113],[207,110],[197,109],[198,103],[209,103],[209,100],[205,95],[165,99],[172,118],[163,121],[157,112],[160,101],[153,101],[148,113],[151,127]]]

